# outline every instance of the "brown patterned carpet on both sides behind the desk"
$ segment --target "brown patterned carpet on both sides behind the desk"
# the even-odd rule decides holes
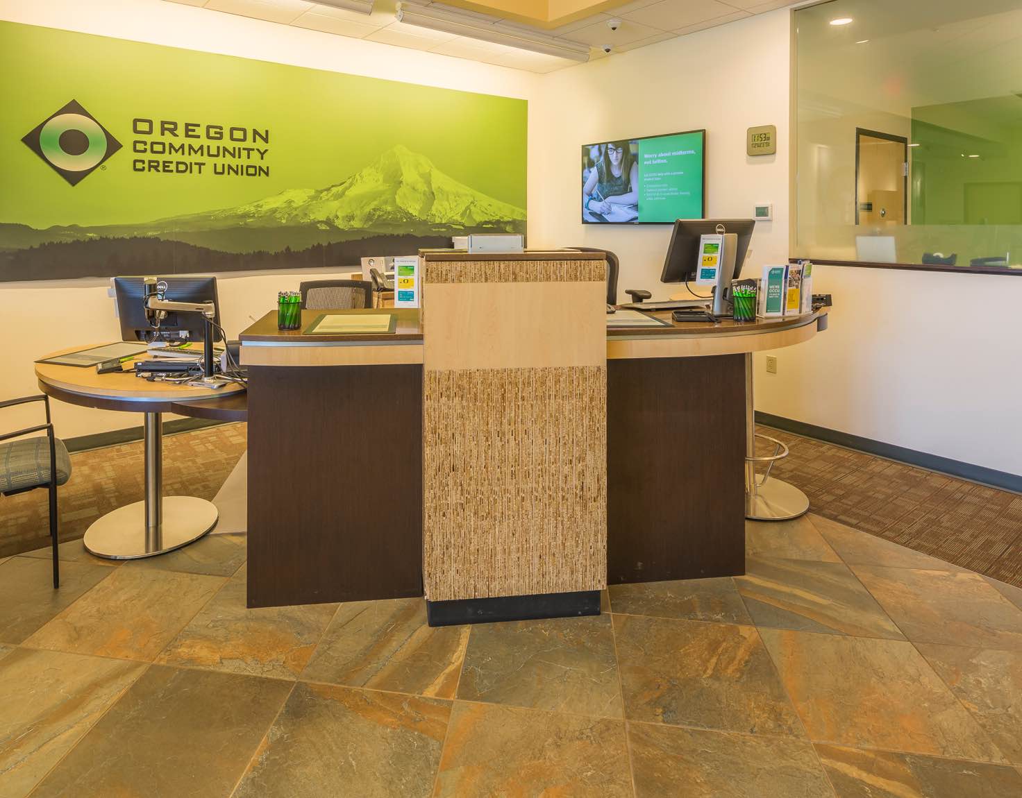
[[[791,449],[775,474],[804,490],[812,512],[1022,586],[1022,496],[762,429]],[[166,436],[165,494],[212,500],[244,454],[246,431],[226,424]],[[81,537],[104,513],[141,501],[141,441],[78,453],[72,463],[59,495],[61,539]],[[46,543],[45,490],[0,498],[0,557]]]

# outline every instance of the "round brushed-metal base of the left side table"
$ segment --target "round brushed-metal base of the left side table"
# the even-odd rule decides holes
[[[189,496],[162,498],[159,532],[146,534],[145,502],[120,507],[95,521],[85,533],[85,548],[108,560],[138,560],[180,549],[217,525],[213,502]]]

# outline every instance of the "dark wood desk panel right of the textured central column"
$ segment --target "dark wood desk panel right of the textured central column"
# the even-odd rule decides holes
[[[607,362],[607,577],[745,572],[742,355]]]

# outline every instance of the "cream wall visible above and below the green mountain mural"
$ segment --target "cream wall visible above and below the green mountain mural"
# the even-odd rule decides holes
[[[530,101],[541,80],[532,73],[162,0],[0,0],[0,19]],[[530,116],[529,140],[535,136]],[[529,179],[528,184],[531,206],[542,181]],[[249,317],[262,317],[274,307],[278,290],[296,289],[304,279],[323,279],[329,274],[319,270],[218,275],[225,329],[237,335],[250,324]],[[120,337],[113,300],[107,296],[108,285],[105,279],[0,283],[0,397],[38,392],[33,361],[42,355]],[[0,424],[7,429],[28,426],[38,412],[37,408],[24,413],[8,410]],[[63,437],[141,423],[137,414],[60,402],[53,403],[53,412]]]

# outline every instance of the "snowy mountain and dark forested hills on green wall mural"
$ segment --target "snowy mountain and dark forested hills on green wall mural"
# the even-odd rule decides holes
[[[326,188],[131,225],[0,224],[0,280],[358,264],[469,233],[524,233],[525,212],[440,172],[403,145]],[[127,271],[126,271],[127,269]]]

